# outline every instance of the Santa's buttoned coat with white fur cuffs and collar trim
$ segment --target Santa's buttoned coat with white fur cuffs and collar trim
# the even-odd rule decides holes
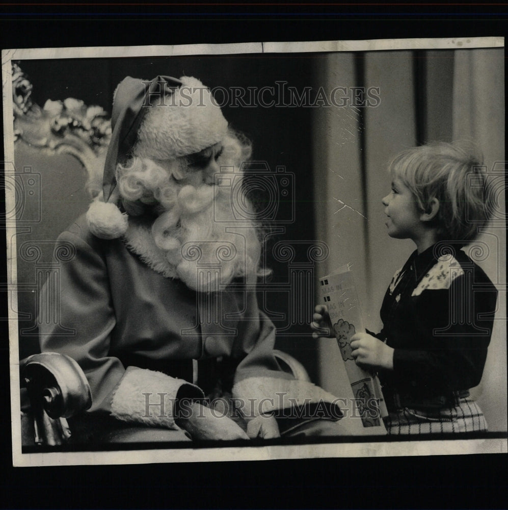
[[[67,354],[81,366],[92,390],[89,412],[173,428],[171,416],[163,422],[146,416],[144,393],[165,393],[168,409],[182,388],[190,397],[203,395],[181,378],[126,370],[122,361],[132,359],[145,360],[144,368],[152,361],[174,366],[207,358],[236,360],[232,394],[260,402],[251,406],[254,414],[280,407],[281,394],[284,406],[335,400],[280,370],[273,355],[275,327],[258,309],[253,282],[213,296],[192,291],[169,276],[171,268],[151,244],[146,225],[129,222],[127,237],[113,240],[93,236],[84,216],[72,224],[58,239],[75,250],[59,263],[59,323],[44,320],[41,301],[41,349]],[[61,326],[69,333],[62,335]]]

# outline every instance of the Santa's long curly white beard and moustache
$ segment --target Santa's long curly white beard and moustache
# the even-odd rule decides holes
[[[151,196],[145,191],[140,201],[157,201],[151,208],[158,214],[151,235],[177,277],[189,288],[218,291],[233,278],[262,274],[258,269],[261,249],[256,223],[245,215],[235,218],[233,214],[234,199],[241,202],[242,211],[247,207],[252,213],[248,216],[253,217],[252,206],[243,192],[239,196],[235,193],[233,198],[229,187],[204,183],[182,186],[171,179],[169,184],[167,177],[162,182],[155,181],[158,184],[149,187]],[[123,188],[120,185],[121,195],[132,199],[132,194],[122,192]],[[127,211],[131,209],[129,214],[135,212],[135,203],[124,200]]]

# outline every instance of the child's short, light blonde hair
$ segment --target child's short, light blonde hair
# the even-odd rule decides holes
[[[483,156],[469,142],[433,142],[400,152],[388,168],[411,190],[421,212],[439,200],[433,219],[439,240],[467,244],[489,222],[482,165]]]

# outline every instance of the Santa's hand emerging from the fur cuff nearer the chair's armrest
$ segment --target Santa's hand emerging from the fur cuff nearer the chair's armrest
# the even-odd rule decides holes
[[[188,431],[194,440],[249,439],[233,420],[197,402],[182,407],[175,422]]]

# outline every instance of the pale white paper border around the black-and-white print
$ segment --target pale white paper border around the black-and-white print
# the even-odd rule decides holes
[[[11,61],[28,59],[81,59],[115,57],[153,57],[184,55],[238,55],[270,53],[360,52],[394,49],[466,49],[504,47],[503,37],[441,38],[441,39],[384,39],[365,41],[316,42],[254,42],[238,44],[191,44],[173,46],[131,47],[70,47],[6,49],[2,51],[2,80],[4,106],[5,161],[14,161],[14,132],[12,109]],[[15,207],[13,193],[6,193],[6,210]],[[16,226],[6,225],[8,252],[16,253]],[[504,438],[454,439],[437,441],[376,441],[340,442],[324,444],[269,445],[255,447],[178,448],[124,451],[59,451],[22,453],[19,350],[17,318],[16,260],[8,261],[9,346],[12,454],[14,466],[70,466],[85,464],[145,464],[166,462],[208,462],[282,460],[292,458],[371,457],[403,455],[443,455],[468,453],[506,453],[508,441]]]

